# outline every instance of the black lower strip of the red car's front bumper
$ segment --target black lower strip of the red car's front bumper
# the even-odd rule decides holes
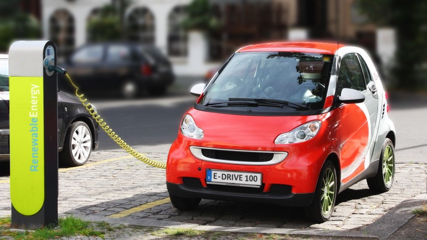
[[[238,193],[219,192],[210,190],[207,187],[195,186],[194,184],[174,184],[166,182],[167,191],[171,195],[179,197],[195,197],[213,200],[226,201],[248,201],[270,203],[281,206],[307,207],[313,200],[314,193],[292,193],[283,188],[283,191],[270,191],[262,193]]]

